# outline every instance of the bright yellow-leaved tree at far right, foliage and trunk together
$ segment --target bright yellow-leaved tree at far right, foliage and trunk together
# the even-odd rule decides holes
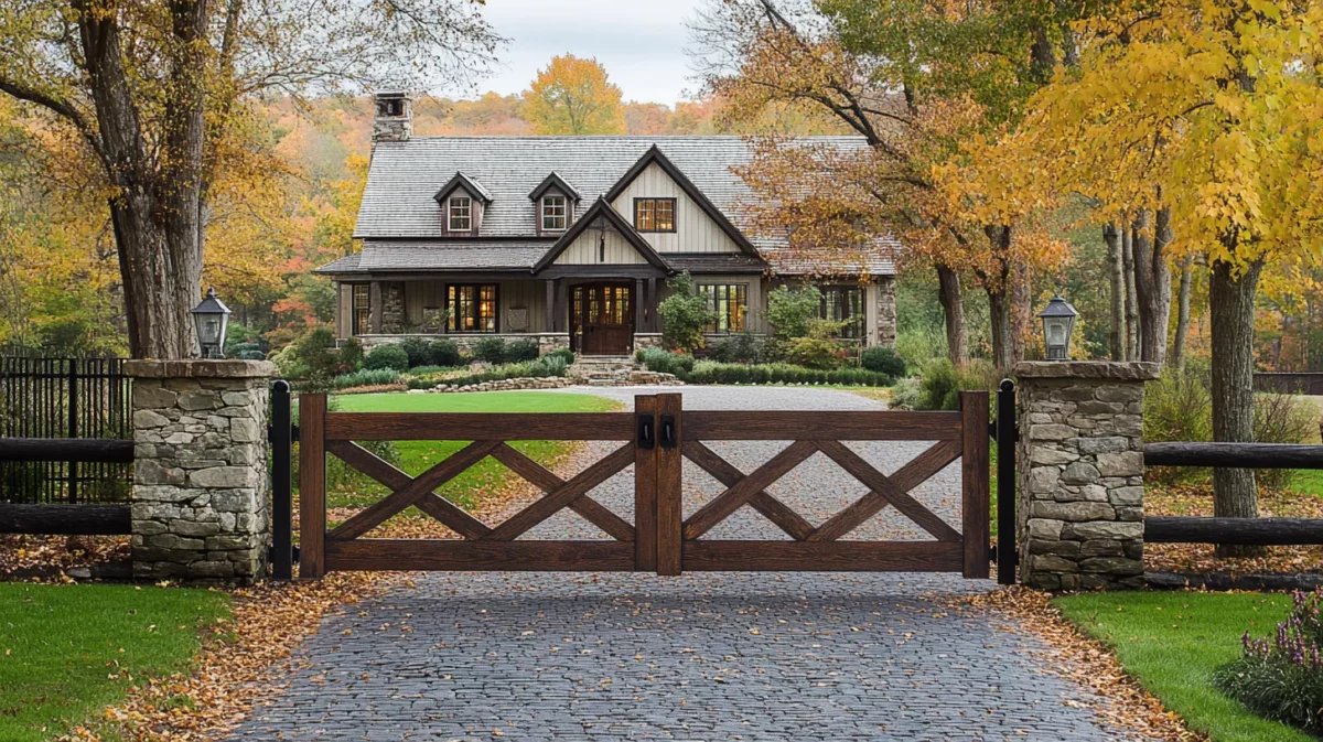
[[[1259,276],[1323,249],[1323,3],[1126,0],[1077,30],[1078,69],[1028,122],[1044,167],[1103,197],[1160,193],[1172,250],[1211,270],[1213,438],[1253,440]],[[1213,483],[1217,516],[1257,516],[1252,471]]]

